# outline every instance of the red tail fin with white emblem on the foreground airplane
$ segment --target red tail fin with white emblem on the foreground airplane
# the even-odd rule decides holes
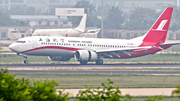
[[[144,36],[140,46],[153,46],[165,43],[173,8],[167,7],[155,24]]]

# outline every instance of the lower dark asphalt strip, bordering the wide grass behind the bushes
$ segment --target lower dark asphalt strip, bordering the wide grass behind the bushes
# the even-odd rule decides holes
[[[132,70],[9,70],[10,73],[48,74],[180,74],[180,71],[132,71]]]

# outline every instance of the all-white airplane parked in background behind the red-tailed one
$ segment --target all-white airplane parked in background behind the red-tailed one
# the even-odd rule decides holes
[[[79,37],[79,36],[85,36],[88,37],[85,34],[96,34],[99,32],[99,29],[91,29],[94,31],[94,33],[88,33],[88,30],[85,30],[86,26],[86,19],[87,14],[84,14],[82,17],[81,22],[79,23],[79,26],[76,28],[64,28],[64,29],[37,29],[34,31],[32,36],[69,36],[69,37]]]

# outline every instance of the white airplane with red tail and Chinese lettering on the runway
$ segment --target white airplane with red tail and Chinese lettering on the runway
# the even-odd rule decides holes
[[[21,38],[9,48],[26,58],[24,63],[28,63],[28,55],[48,56],[52,61],[69,61],[74,57],[81,65],[88,62],[102,65],[104,58],[126,59],[155,54],[180,44],[165,43],[172,11],[172,7],[167,7],[145,35],[129,40],[34,36]]]

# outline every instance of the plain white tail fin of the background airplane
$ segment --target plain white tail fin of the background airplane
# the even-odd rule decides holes
[[[84,14],[81,22],[79,23],[79,26],[76,27],[75,29],[81,32],[85,32],[85,27],[86,27],[86,19],[87,19],[87,14]]]

